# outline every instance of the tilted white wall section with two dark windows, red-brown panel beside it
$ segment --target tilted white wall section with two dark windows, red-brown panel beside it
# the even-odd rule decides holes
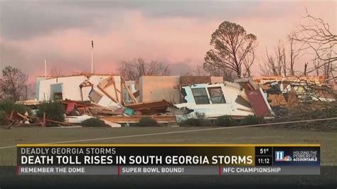
[[[242,91],[244,97],[242,97]],[[178,109],[185,109],[185,115],[178,119],[198,117],[203,114],[206,118],[223,115],[245,117],[256,114],[259,117],[271,117],[272,109],[260,90],[244,90],[238,84],[224,82],[218,84],[197,84],[182,87],[182,104],[176,104]]]

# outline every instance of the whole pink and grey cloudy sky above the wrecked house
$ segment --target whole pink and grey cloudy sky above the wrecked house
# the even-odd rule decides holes
[[[258,70],[265,48],[273,48],[284,38],[307,6],[203,1],[196,4],[1,2],[0,5],[1,66],[14,65],[32,76],[43,75],[45,58],[48,68],[59,66],[65,74],[90,71],[91,40],[95,41],[97,72],[116,73],[122,60],[142,57],[169,63],[172,73],[180,74],[203,63],[205,52],[210,49],[211,34],[225,20],[239,23],[257,36],[260,59],[257,58],[255,70]],[[314,4],[309,11],[317,13],[324,9],[323,16],[330,13],[331,17],[331,7]],[[333,23],[336,18],[328,22],[331,20]]]

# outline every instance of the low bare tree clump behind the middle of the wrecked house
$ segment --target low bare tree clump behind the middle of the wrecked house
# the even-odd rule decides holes
[[[169,75],[169,65],[151,61],[146,63],[143,58],[137,58],[130,61],[123,61],[119,72],[125,80],[139,80],[142,75]]]

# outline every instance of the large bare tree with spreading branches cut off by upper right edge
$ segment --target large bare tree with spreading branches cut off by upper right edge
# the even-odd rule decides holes
[[[337,35],[332,33],[328,23],[325,23],[321,18],[311,16],[308,11],[306,11],[304,18],[308,23],[297,26],[291,39],[301,45],[300,50],[314,53],[316,59],[322,60],[323,63],[318,68],[329,64],[334,66],[337,61],[335,46],[337,44]],[[327,56],[329,52],[331,52],[331,55]],[[306,74],[314,72],[318,68],[306,70]]]

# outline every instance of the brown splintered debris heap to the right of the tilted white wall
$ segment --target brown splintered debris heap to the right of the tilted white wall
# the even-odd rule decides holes
[[[306,109],[320,109],[321,104],[336,101],[336,92],[324,77],[249,77],[235,80],[240,85],[260,86],[267,94],[267,101],[277,117],[283,117],[290,112],[301,113]]]

